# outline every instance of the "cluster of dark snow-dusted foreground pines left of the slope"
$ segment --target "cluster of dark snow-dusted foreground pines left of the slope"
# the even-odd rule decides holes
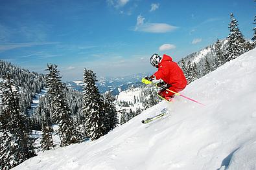
[[[96,85],[96,75],[84,69],[84,91],[81,95],[69,94],[62,83],[57,65],[48,64],[45,76],[47,94],[32,116],[22,109],[20,100],[25,91],[11,72],[1,75],[0,80],[0,167],[11,169],[36,155],[32,127],[42,130],[41,151],[54,149],[52,125],[60,136],[60,147],[84,140],[97,140],[117,127],[117,111],[110,93],[101,95]],[[44,85],[44,83],[42,83]],[[43,87],[41,87],[43,88]],[[39,92],[40,89],[36,90]],[[72,91],[72,90],[71,90]],[[77,98],[76,98],[77,97]],[[78,103],[69,102],[82,100]],[[30,100],[31,103],[31,100]],[[80,105],[80,103],[82,105]]]

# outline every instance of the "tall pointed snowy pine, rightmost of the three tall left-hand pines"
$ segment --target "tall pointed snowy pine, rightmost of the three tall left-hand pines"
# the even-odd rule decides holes
[[[106,134],[106,114],[102,109],[102,99],[96,85],[96,75],[84,69],[83,114],[87,137],[97,140]]]

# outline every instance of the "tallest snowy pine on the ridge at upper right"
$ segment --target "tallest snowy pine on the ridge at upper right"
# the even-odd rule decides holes
[[[227,37],[227,53],[225,55],[226,61],[230,61],[231,59],[235,59],[240,54],[243,54],[246,49],[246,41],[242,32],[240,32],[238,28],[237,19],[235,19],[234,15],[231,13],[230,15],[231,22],[229,23],[229,36]]]

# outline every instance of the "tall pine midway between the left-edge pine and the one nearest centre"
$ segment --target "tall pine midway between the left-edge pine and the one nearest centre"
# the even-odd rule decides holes
[[[57,70],[57,65],[48,64],[45,70],[49,71],[46,81],[51,98],[52,118],[59,125],[60,146],[77,143],[80,139],[76,136],[76,129],[71,118],[71,111],[65,100],[64,87],[60,81],[61,76]]]

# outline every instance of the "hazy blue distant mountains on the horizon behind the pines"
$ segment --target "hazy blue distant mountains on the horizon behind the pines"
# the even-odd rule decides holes
[[[132,87],[138,87],[141,83],[141,78],[151,75],[151,73],[139,73],[133,74],[131,76],[124,76],[121,78],[97,78],[97,87],[100,90],[100,93],[111,91],[113,95],[118,95],[121,91],[127,90]],[[84,85],[82,80],[78,81],[67,81],[65,82],[67,87],[72,89],[82,91],[82,86]]]

